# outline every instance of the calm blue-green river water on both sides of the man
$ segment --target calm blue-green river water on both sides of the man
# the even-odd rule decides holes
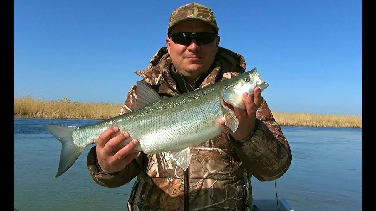
[[[86,148],[58,178],[61,143],[41,127],[88,125],[95,120],[14,118],[14,208],[26,210],[126,210],[133,181],[97,185],[86,167]],[[290,169],[276,180],[278,198],[295,211],[362,210],[362,129],[282,127],[290,143]],[[252,178],[253,198],[276,197],[274,181]]]

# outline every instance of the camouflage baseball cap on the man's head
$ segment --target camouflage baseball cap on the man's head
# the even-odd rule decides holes
[[[216,32],[219,30],[217,20],[210,8],[199,3],[189,3],[175,9],[171,13],[167,33],[170,33],[171,29],[177,24],[189,20],[203,21],[212,26]]]

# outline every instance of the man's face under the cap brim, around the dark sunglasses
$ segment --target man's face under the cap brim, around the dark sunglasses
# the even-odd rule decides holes
[[[215,32],[214,29],[202,21],[185,21],[176,25],[170,33],[176,32]],[[196,79],[200,74],[208,71],[212,66],[218,51],[219,36],[209,44],[197,45],[193,39],[191,44],[182,45],[166,38],[168,53],[176,68],[185,77]]]

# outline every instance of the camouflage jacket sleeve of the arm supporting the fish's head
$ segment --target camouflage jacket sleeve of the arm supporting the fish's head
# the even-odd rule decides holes
[[[243,140],[229,138],[245,169],[259,181],[277,179],[290,167],[290,146],[264,98],[256,112],[255,129]]]

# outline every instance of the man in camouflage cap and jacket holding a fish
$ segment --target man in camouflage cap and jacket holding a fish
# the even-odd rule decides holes
[[[174,10],[168,25],[167,47],[161,48],[143,71],[142,83],[162,98],[235,77],[246,69],[243,56],[218,46],[218,26],[211,9],[190,3]],[[132,112],[136,85],[118,115]],[[129,210],[251,210],[251,176],[272,181],[291,163],[290,146],[275,122],[259,88],[243,95],[246,110],[235,108],[236,133],[225,130],[214,139],[191,147],[191,164],[183,172],[165,154],[131,153],[138,144],[118,128],[109,128],[87,158],[92,178],[105,187],[119,187],[137,176]],[[223,122],[221,122],[223,124]]]

